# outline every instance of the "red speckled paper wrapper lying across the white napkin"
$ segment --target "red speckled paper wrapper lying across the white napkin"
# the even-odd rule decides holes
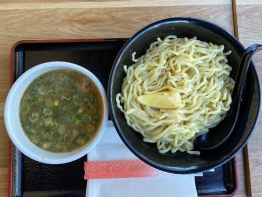
[[[87,161],[84,179],[158,176],[158,170],[141,160]]]

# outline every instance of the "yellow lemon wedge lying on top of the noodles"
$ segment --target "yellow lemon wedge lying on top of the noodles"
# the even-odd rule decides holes
[[[138,96],[138,102],[157,109],[173,109],[181,106],[181,96],[177,92],[156,92]]]

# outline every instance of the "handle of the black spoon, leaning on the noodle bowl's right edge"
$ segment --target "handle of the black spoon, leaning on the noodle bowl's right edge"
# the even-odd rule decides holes
[[[232,108],[237,109],[236,117],[238,116],[238,111],[241,102],[242,92],[244,88],[244,81],[246,78],[247,70],[249,68],[250,61],[252,59],[252,56],[257,52],[258,50],[262,50],[261,44],[252,44],[250,45],[244,52],[241,58],[241,63],[239,65],[236,81],[235,81],[235,87],[232,93],[232,104],[236,106],[232,106]]]

